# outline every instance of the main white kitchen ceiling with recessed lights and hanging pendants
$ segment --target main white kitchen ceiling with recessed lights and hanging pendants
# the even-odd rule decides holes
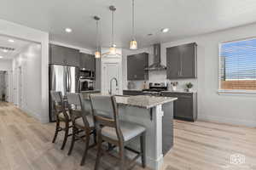
[[[111,39],[111,13],[115,5],[115,43],[127,48],[131,40],[131,0],[5,0],[3,20],[48,31],[49,38],[82,48],[95,48],[96,23],[101,17],[102,47]],[[140,47],[171,42],[256,21],[255,0],[135,0],[136,37]],[[70,27],[72,33],[64,29]],[[168,27],[167,33],[160,29]],[[152,33],[153,36],[148,36]]]

